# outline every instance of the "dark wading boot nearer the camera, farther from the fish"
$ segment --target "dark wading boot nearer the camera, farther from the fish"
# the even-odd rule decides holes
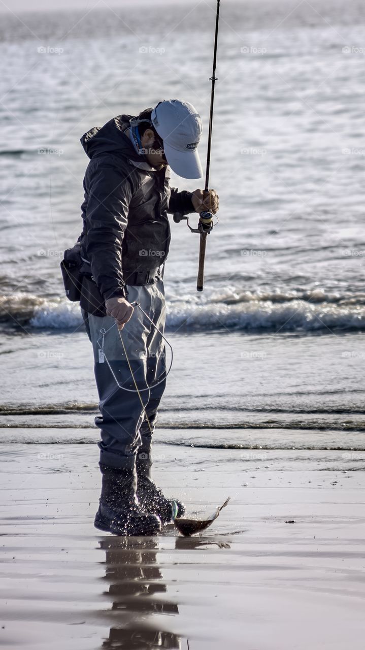
[[[101,496],[94,526],[113,535],[156,535],[161,522],[152,512],[145,512],[136,497],[136,470],[108,467],[101,469]]]

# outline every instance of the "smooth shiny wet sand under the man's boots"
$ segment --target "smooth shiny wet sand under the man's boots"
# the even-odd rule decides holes
[[[364,647],[365,478],[348,469],[350,452],[242,461],[234,450],[157,444],[166,493],[191,512],[231,502],[199,537],[169,528],[116,538],[92,525],[95,445],[1,449],[6,649]]]

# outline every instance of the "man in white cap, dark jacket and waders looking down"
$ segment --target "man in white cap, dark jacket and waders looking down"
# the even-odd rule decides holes
[[[215,190],[169,187],[169,167],[184,178],[203,175],[201,131],[192,104],[171,99],[137,117],[119,115],[81,138],[90,162],[81,206],[80,304],[101,412],[94,525],[116,535],[153,535],[171,520],[173,506],[184,513],[183,503],[165,497],[151,478],[151,443],[166,383],[167,213],[218,211]]]

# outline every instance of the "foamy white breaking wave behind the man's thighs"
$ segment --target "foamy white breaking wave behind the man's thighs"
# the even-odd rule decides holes
[[[167,303],[168,330],[320,331],[365,330],[365,294],[324,291],[206,292],[173,295]],[[36,329],[82,326],[77,303],[18,293],[0,297],[0,321]]]

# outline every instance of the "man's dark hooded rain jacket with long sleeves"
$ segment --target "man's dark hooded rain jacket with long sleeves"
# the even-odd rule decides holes
[[[122,296],[131,274],[154,270],[166,261],[167,213],[194,212],[191,192],[170,188],[169,168],[151,168],[134,149],[124,133],[130,120],[131,115],[119,115],[81,138],[90,162],[79,241],[104,300]]]

